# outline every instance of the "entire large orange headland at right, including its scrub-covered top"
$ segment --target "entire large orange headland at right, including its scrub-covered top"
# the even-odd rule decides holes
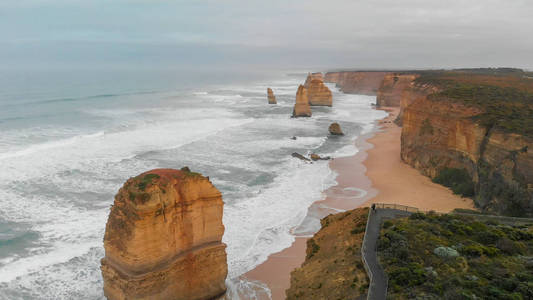
[[[485,212],[531,216],[533,80],[471,72],[422,73],[403,92],[401,157],[431,178],[466,170]]]

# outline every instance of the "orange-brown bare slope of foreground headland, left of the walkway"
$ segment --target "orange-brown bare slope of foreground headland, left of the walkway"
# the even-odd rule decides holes
[[[307,241],[307,255],[291,273],[287,299],[358,299],[368,289],[361,244],[368,208],[329,215]]]

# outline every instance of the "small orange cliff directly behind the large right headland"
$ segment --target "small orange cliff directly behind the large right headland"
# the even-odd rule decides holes
[[[417,76],[397,73],[385,75],[377,92],[376,105],[399,107],[403,91],[411,87]]]

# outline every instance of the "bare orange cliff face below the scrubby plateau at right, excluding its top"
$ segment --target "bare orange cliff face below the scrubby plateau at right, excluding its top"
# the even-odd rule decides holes
[[[437,88],[414,85],[402,105],[401,158],[434,178],[444,168],[466,169],[474,202],[496,214],[533,215],[533,138],[476,122],[483,113],[449,99],[428,96]],[[426,95],[423,95],[426,93]]]

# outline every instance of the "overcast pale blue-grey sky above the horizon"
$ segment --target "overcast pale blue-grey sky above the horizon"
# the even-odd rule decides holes
[[[1,0],[0,68],[533,69],[531,0]]]

